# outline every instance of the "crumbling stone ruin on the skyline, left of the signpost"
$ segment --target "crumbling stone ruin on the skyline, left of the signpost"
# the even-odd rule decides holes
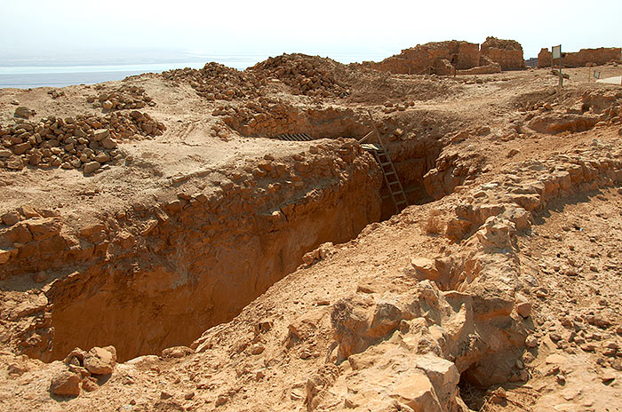
[[[519,70],[525,64],[521,44],[487,37],[481,47],[457,40],[419,44],[378,63],[363,62],[363,67],[401,75],[482,75]]]

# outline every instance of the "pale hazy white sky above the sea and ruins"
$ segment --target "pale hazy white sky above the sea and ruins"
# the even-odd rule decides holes
[[[26,57],[167,49],[200,53],[381,53],[430,41],[517,40],[525,58],[622,45],[622,1],[193,2],[0,0],[0,66]],[[4,57],[3,57],[4,56]]]

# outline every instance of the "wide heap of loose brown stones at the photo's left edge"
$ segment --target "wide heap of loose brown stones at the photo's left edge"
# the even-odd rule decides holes
[[[165,130],[146,113],[113,113],[106,117],[77,115],[49,116],[38,123],[17,121],[0,125],[0,168],[99,170],[101,164],[118,160],[116,140],[135,136],[152,137]]]

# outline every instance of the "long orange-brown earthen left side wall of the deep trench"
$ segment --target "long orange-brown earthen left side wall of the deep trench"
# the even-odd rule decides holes
[[[187,345],[231,320],[308,250],[347,242],[378,220],[381,181],[370,155],[335,140],[291,162],[265,159],[211,194],[138,202],[78,232],[50,211],[5,211],[0,280],[57,277],[32,311],[32,328],[11,340],[45,361],[76,346],[115,345],[125,360]]]

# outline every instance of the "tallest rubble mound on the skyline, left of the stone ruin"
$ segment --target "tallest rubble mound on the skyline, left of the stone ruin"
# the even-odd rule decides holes
[[[312,97],[346,97],[347,87],[339,83],[339,63],[305,54],[283,54],[262,61],[250,70],[260,78],[273,77],[291,87],[294,94]]]

